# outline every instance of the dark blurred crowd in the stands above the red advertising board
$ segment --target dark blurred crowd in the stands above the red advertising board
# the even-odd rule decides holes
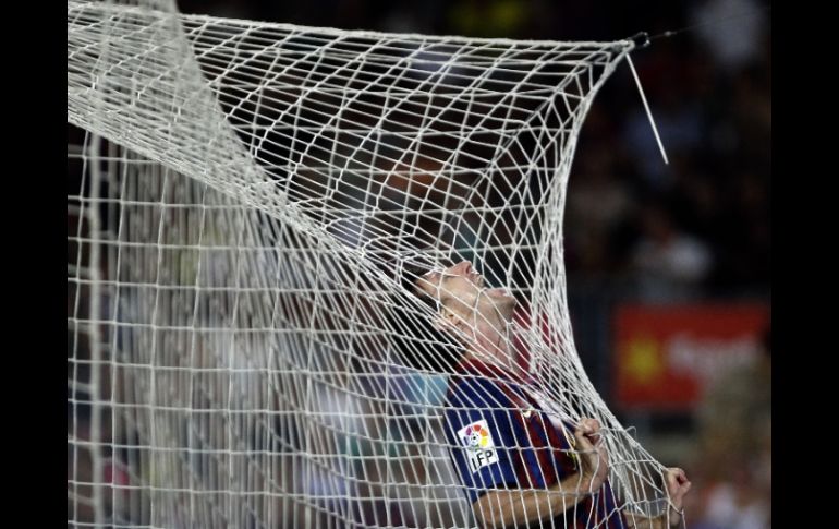
[[[770,270],[769,4],[756,0],[179,2],[186,13],[388,32],[609,40],[692,27],[633,53],[595,99],[572,168],[569,274],[650,301],[765,294]],[[594,207],[596,206],[596,207]]]

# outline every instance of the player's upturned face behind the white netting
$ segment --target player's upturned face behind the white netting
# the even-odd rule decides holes
[[[504,289],[485,289],[484,277],[469,261],[429,272],[417,281],[417,288],[466,322],[474,322],[475,316],[496,317],[499,312],[509,317],[515,305],[515,298]]]

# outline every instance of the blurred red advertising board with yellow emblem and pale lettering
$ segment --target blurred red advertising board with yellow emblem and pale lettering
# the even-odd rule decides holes
[[[615,320],[615,377],[624,409],[686,410],[716,378],[754,362],[766,304],[624,305]]]

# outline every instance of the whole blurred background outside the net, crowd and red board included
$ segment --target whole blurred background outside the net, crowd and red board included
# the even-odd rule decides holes
[[[693,481],[689,527],[770,527],[770,3],[180,0],[184,13],[344,29],[613,40],[692,27],[595,99],[571,170],[568,296],[610,409]]]

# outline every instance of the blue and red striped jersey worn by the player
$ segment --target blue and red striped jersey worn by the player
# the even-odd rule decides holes
[[[498,368],[462,362],[449,383],[446,409],[449,456],[471,504],[493,489],[549,489],[579,471],[573,425],[551,418]],[[540,527],[623,529],[627,524],[607,481]]]

